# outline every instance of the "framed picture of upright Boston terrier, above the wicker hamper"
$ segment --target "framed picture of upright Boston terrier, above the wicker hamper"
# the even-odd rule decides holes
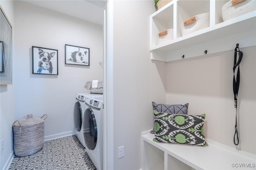
[[[32,74],[58,75],[58,50],[32,46]]]

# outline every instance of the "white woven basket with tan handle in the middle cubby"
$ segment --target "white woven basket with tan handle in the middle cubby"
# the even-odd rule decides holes
[[[193,21],[192,23],[188,23],[184,25],[184,23],[186,22],[185,21],[182,22],[181,24],[182,36],[210,27],[210,13],[199,14],[194,18],[195,18],[195,21]]]

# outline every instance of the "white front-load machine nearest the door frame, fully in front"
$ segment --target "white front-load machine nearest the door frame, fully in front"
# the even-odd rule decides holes
[[[103,169],[103,95],[85,100],[84,141],[86,152],[97,170]]]

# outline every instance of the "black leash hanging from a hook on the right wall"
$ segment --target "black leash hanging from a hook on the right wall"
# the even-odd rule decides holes
[[[239,90],[239,84],[240,84],[239,64],[241,63],[243,58],[243,53],[242,51],[239,50],[238,46],[239,44],[236,44],[235,54],[234,54],[234,67],[233,67],[233,72],[234,72],[233,91],[234,91],[234,102],[235,102],[235,108],[236,108],[236,125],[235,125],[235,134],[234,134],[235,145],[239,144],[238,130],[237,130],[237,96],[238,96],[238,90]],[[238,54],[238,58],[237,58],[237,54]],[[236,68],[237,68],[237,72],[235,74]],[[237,142],[236,142],[236,139],[237,139]]]

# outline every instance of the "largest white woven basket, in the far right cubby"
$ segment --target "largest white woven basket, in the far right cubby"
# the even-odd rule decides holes
[[[234,5],[231,0],[222,6],[222,18],[227,21],[252,11],[256,11],[256,0],[244,0]]]

